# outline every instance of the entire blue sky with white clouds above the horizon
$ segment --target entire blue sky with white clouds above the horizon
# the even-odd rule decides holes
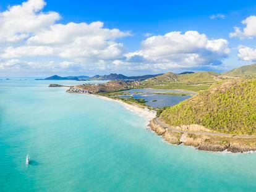
[[[1,15],[0,23],[12,23],[15,17],[21,18],[17,16],[18,14],[15,14],[16,10],[10,10],[12,6],[17,5],[20,5],[20,10],[23,10],[25,6],[22,7],[22,2],[26,1],[1,1],[0,12],[9,11],[14,16]],[[2,56],[2,58],[0,57],[0,75],[38,76],[53,73],[94,75],[111,72],[139,75],[167,71],[182,72],[184,70],[215,70],[221,72],[256,61],[254,46],[256,34],[243,32],[246,26],[253,28],[255,20],[252,18],[247,24],[241,23],[242,20],[256,15],[255,1],[30,0],[29,3],[39,6],[35,8],[32,14],[33,17],[35,16],[34,19],[36,19],[36,15],[48,14],[48,12],[58,13],[59,18],[52,15],[52,17],[49,17],[48,26],[45,23],[39,23],[38,30],[28,27],[27,30],[20,31],[17,29],[19,27],[17,25],[17,28],[3,28],[1,33],[0,27],[0,39],[1,35],[4,36],[0,47],[0,56]],[[19,13],[19,11],[17,12]],[[22,22],[28,20],[28,25],[30,25],[30,16],[25,15]],[[90,46],[85,48],[83,44],[79,44],[81,47],[74,49],[77,44],[72,44],[72,46],[70,45],[72,42],[64,44],[63,42],[66,42],[66,40],[62,40],[61,48],[58,48],[58,44],[60,44],[58,42],[49,44],[48,40],[47,43],[30,41],[33,36],[41,38],[41,31],[49,30],[53,25],[59,23],[67,25],[70,22],[77,24],[84,22],[90,25],[90,23],[98,21],[103,23],[103,27],[96,27],[98,31],[95,37],[91,34],[93,30],[90,31],[92,39],[102,40],[97,45],[89,43]],[[35,23],[35,20],[33,22]],[[33,25],[33,22],[31,25]],[[234,27],[240,27],[242,33],[237,33],[231,38],[230,33],[234,32]],[[67,28],[64,26],[63,31],[68,31]],[[105,33],[103,32],[105,28],[108,30],[116,28],[119,33],[116,35],[114,31],[110,31],[102,38],[100,35]],[[19,41],[15,42],[13,40],[9,41],[9,39],[6,40],[10,38],[10,36],[4,34],[7,33],[7,30],[14,31],[13,36],[22,34],[24,37],[19,37]],[[166,33],[173,31],[181,31],[181,35],[171,35],[168,38],[164,36]],[[201,35],[204,34],[206,36],[205,43],[202,43],[202,46],[197,46],[193,42],[187,43],[187,38],[184,38],[186,31],[197,31],[198,34],[193,33],[188,36],[198,36],[200,40],[203,38]],[[89,33],[88,29],[85,29],[84,34],[79,34],[74,41],[79,40],[80,42],[80,38],[82,38],[83,43],[87,44],[87,33]],[[74,33],[68,34],[72,35]],[[145,36],[146,34],[147,36]],[[154,43],[151,44],[150,42],[154,36],[160,36],[160,38],[155,38]],[[173,43],[176,38],[180,38],[177,41],[177,46],[181,48],[172,50],[176,48],[176,44]],[[212,42],[222,39],[226,41],[217,42],[217,44],[222,43],[221,48],[215,46],[218,50],[214,51],[212,47],[209,48]],[[145,41],[144,44],[143,41]],[[164,43],[164,41],[171,43]],[[208,41],[212,41],[210,45]],[[181,43],[185,45],[183,46]],[[186,47],[189,47],[189,50],[182,51]],[[43,51],[39,54],[38,52],[31,54],[32,50],[35,49]],[[45,49],[47,50],[45,51]],[[56,51],[56,49],[58,50]],[[88,52],[92,49],[95,55],[91,56],[90,54],[88,56]],[[163,51],[163,49],[172,51]],[[159,53],[156,54],[155,52],[158,51]],[[239,56],[237,56],[238,51],[241,51]],[[85,52],[85,54],[81,55],[77,52]],[[77,56],[75,56],[76,54]],[[170,55],[172,56],[170,57]],[[191,56],[193,58],[190,64]],[[184,57],[184,60],[178,57]]]

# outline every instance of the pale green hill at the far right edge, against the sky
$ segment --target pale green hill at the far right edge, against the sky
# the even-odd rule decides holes
[[[256,77],[256,64],[244,65],[242,67],[230,70],[229,72],[224,72],[223,75],[228,75],[233,77],[245,77],[245,76]]]

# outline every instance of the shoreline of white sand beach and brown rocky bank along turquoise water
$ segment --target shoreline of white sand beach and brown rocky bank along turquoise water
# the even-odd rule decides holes
[[[67,91],[67,93],[70,93]],[[148,128],[154,131],[156,135],[163,138],[164,141],[169,144],[184,146],[192,146],[195,149],[208,152],[241,152],[252,153],[256,151],[256,136],[252,138],[236,137],[236,135],[224,136],[221,133],[213,134],[200,134],[199,132],[184,133],[184,131],[172,130],[172,128],[163,127],[161,123],[157,122],[156,111],[148,109],[147,107],[138,106],[136,104],[130,104],[119,99],[109,98],[108,96],[101,96],[98,94],[90,93],[78,93],[88,94],[95,96],[106,101],[117,102],[124,106],[127,110],[134,112],[140,117],[143,117],[148,122]]]

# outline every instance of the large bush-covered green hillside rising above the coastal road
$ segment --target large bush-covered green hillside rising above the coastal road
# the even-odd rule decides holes
[[[203,125],[223,133],[256,135],[256,80],[229,80],[164,110],[169,125]]]

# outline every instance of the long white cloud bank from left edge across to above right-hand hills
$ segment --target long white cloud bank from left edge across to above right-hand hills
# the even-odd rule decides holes
[[[44,0],[28,0],[0,12],[0,69],[53,71],[171,70],[220,65],[228,41],[197,31],[146,34],[138,51],[127,52],[119,38],[129,31],[100,21],[61,23],[58,12],[44,12]],[[221,17],[220,15],[218,17]]]

